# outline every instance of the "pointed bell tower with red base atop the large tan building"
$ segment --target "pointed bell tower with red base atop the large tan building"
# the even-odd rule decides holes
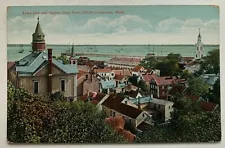
[[[33,51],[45,50],[45,35],[41,30],[41,25],[39,23],[39,16],[37,18],[37,26],[35,32],[32,34],[32,49]]]

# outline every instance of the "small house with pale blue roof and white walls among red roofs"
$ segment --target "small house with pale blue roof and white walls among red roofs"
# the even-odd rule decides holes
[[[116,88],[116,81],[115,80],[109,80],[109,81],[100,81],[100,92],[109,94],[110,92],[114,92]]]

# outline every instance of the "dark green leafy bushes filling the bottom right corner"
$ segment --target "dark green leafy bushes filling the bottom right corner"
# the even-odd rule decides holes
[[[175,110],[172,120],[145,130],[138,143],[217,142],[221,140],[220,112],[203,112],[191,100],[181,100],[183,108]]]

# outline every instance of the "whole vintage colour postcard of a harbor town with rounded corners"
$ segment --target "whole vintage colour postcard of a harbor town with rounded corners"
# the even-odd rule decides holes
[[[10,6],[9,143],[219,142],[217,6]]]

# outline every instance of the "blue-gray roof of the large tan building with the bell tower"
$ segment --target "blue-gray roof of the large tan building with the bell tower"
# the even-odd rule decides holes
[[[77,74],[77,65],[63,64],[56,59],[52,59],[52,63],[60,70],[67,74]],[[23,59],[16,62],[16,71],[19,76],[33,75],[37,70],[48,64],[48,54],[43,52],[32,52]]]

